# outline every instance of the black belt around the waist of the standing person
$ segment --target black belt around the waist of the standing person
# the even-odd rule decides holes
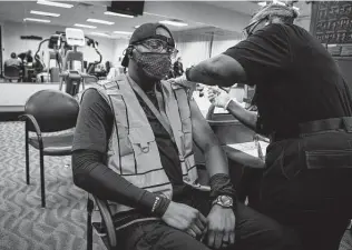
[[[271,140],[280,141],[290,138],[300,138],[311,133],[329,130],[345,130],[346,132],[352,132],[352,117],[330,118],[300,123],[297,133],[273,132],[271,134]]]

